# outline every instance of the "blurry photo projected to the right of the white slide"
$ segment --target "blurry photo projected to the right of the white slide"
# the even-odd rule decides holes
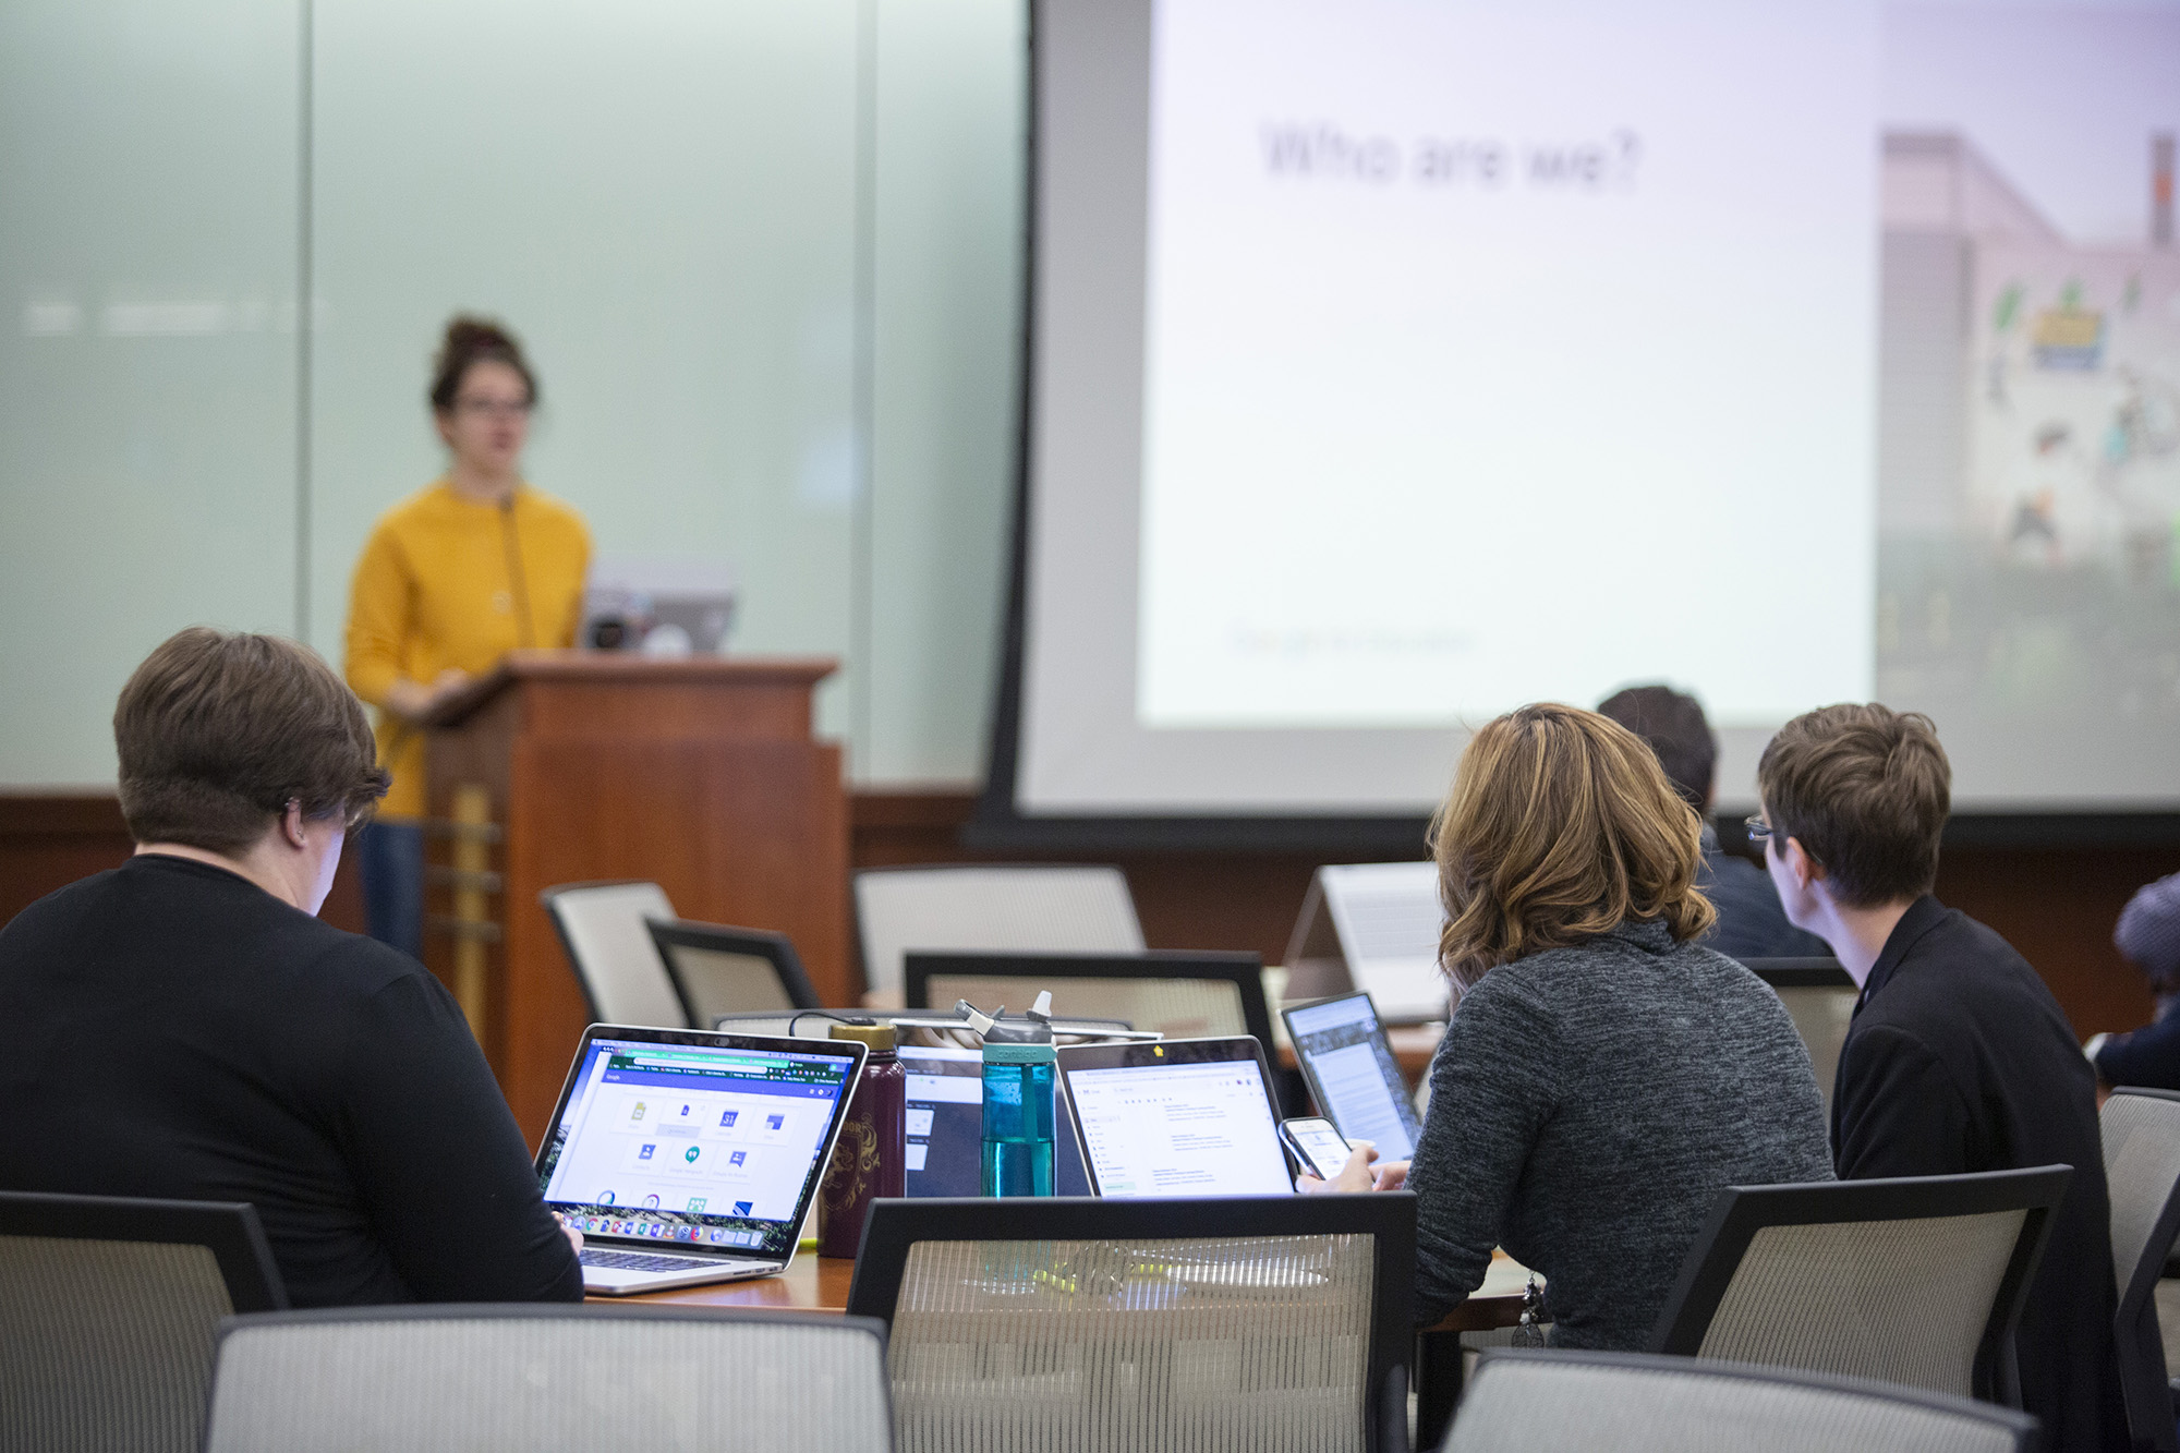
[[[1877,692],[1955,798],[2180,792],[2180,11],[1886,24]]]

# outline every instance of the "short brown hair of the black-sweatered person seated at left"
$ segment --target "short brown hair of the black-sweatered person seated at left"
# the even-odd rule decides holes
[[[122,816],[137,842],[231,853],[290,801],[353,829],[386,796],[355,692],[307,646],[190,626],[135,670],[113,707]]]

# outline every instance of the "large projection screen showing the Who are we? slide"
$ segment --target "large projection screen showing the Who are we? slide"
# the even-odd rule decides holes
[[[1960,807],[2169,809],[2173,74],[2171,7],[1038,0],[1016,812],[1428,812],[1642,681],[1722,805],[1875,698]]]

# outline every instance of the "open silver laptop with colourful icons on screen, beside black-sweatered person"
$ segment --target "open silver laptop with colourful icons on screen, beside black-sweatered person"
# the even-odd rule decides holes
[[[545,1204],[608,1296],[776,1276],[833,1158],[865,1049],[593,1023],[538,1150]]]

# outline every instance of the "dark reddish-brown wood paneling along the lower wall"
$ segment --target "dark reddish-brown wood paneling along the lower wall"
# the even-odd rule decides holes
[[[959,846],[972,803],[968,792],[855,794],[855,866],[996,860]],[[113,796],[0,794],[0,923],[55,888],[120,864],[129,849]],[[1297,853],[1168,851],[1114,862],[1127,873],[1153,949],[1256,949],[1267,962],[1286,951],[1317,866]],[[1938,897],[2021,949],[2088,1036],[2149,1019],[2149,993],[2112,949],[2112,923],[2136,888],[2167,873],[2180,873],[2180,846],[1949,849]],[[362,929],[351,862],[342,862],[323,916]]]

